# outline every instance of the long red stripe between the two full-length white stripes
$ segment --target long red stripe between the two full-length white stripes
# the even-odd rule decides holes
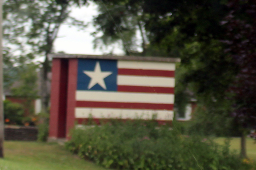
[[[121,102],[76,101],[76,107],[81,107],[81,108],[123,108],[123,109],[173,110],[173,104],[155,104],[155,103],[121,103]]]

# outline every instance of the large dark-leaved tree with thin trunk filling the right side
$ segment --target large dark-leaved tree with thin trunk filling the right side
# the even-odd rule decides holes
[[[204,108],[231,102],[229,116],[240,127],[241,157],[246,157],[245,136],[256,125],[255,1],[183,1],[173,9],[158,6],[150,8],[153,17],[146,25],[151,42],[168,51],[176,42],[182,64],[188,68],[183,83],[192,86]],[[175,32],[179,38],[173,40]],[[188,47],[193,48],[187,51]]]

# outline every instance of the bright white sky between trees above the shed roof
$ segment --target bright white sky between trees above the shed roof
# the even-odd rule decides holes
[[[114,54],[123,55],[123,51],[118,45],[115,48],[108,49],[93,49],[94,37],[90,35],[95,31],[92,26],[93,16],[97,15],[96,4],[90,3],[87,7],[72,8],[71,16],[76,17],[78,20],[83,20],[84,23],[88,23],[88,27],[83,31],[78,31],[76,27],[69,27],[62,25],[59,32],[58,38],[54,42],[54,51],[64,51],[67,54],[91,54],[101,55],[109,53],[112,49]]]

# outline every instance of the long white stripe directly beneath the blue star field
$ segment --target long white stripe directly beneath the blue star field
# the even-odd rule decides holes
[[[174,94],[108,91],[76,91],[76,100],[92,102],[131,102],[173,104]]]

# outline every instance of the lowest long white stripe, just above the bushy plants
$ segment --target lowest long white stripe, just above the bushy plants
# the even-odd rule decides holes
[[[108,109],[108,108],[76,108],[76,118],[96,119],[152,119],[155,115],[157,120],[172,120],[173,111],[153,111],[143,109]]]

